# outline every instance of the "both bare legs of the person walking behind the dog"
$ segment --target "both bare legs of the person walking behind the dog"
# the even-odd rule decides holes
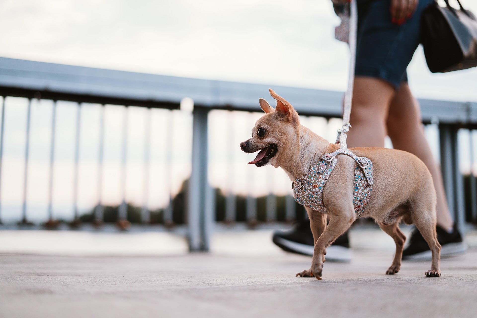
[[[451,230],[453,221],[447,206],[442,175],[425,139],[419,105],[407,83],[403,83],[395,92],[383,80],[357,76],[354,80],[350,122],[353,129],[348,133],[349,147],[383,147],[387,131],[395,149],[415,154],[427,165],[437,193],[437,224]]]

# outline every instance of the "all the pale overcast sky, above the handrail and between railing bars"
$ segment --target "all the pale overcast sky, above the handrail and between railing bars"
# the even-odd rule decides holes
[[[477,13],[477,1],[462,2]],[[330,0],[2,0],[0,56],[125,71],[265,83],[270,87],[275,84],[343,91],[347,83],[349,52],[345,43],[334,39],[334,27],[338,24],[339,19],[332,10]],[[408,74],[410,86],[417,97],[477,102],[477,69],[432,74],[428,71],[422,49],[419,48],[408,68]],[[268,97],[268,92],[264,92],[264,97]],[[9,117],[5,136],[9,139],[5,144],[1,191],[2,204],[14,206],[11,209],[18,212],[22,198],[22,178],[18,176],[23,171],[21,158],[24,152],[22,136],[26,103],[14,100],[11,105],[8,106],[10,108],[7,107]],[[29,185],[29,199],[31,209],[36,206],[44,215],[51,104],[45,102],[43,106],[39,104],[34,107],[38,111],[32,117],[32,131],[37,129],[42,133],[36,134],[36,141],[32,141],[31,171],[36,171],[32,173],[37,175],[31,177],[33,181]],[[88,118],[82,123],[84,149],[82,148],[80,205],[84,209],[94,204],[97,195],[91,183],[96,180],[98,109],[97,105],[83,108],[83,118]],[[130,112],[131,132],[128,138],[131,140],[135,140],[135,136],[143,139],[144,135],[141,134],[144,133],[146,115],[142,111],[132,108]],[[65,206],[71,207],[71,142],[76,110],[71,104],[62,104],[59,112],[58,129],[62,133],[57,139],[62,146],[58,146],[60,150],[55,153],[57,171],[54,179],[54,202],[58,213],[64,212]],[[112,204],[117,203],[121,197],[118,187],[120,162],[117,155],[121,145],[114,137],[121,133],[124,112],[112,107],[106,113],[109,118],[106,122],[109,148],[105,149],[105,182],[109,183],[104,185],[103,193],[104,201]],[[156,123],[168,118],[161,113],[156,113],[155,116]],[[176,123],[184,123],[183,127],[190,123],[187,114],[177,113],[174,118]],[[215,123],[214,129],[218,132],[234,127],[230,136],[223,137],[224,140],[220,140],[222,134],[211,131],[211,182],[224,188],[231,187],[255,194],[262,194],[268,191],[270,185],[279,184],[273,191],[284,193],[285,189],[289,190],[289,182],[283,172],[277,172],[271,167],[257,169],[245,166],[251,160],[250,155],[240,153],[236,147],[239,141],[248,138],[255,119],[255,115],[246,113],[234,113],[234,121],[220,112],[211,115],[211,123]],[[309,120],[308,124],[329,139],[334,138],[330,131],[334,134],[335,126],[339,125],[337,122],[328,126],[319,119]],[[178,162],[174,172],[176,182],[173,185],[176,189],[189,171],[189,128],[173,132],[176,136],[175,144],[178,144],[174,148]],[[108,137],[108,133],[111,137]],[[161,134],[159,131],[156,133]],[[159,139],[157,143],[164,143],[164,140]],[[223,143],[229,143],[233,148],[224,152],[223,147],[217,146]],[[94,144],[93,148],[88,148],[88,144]],[[133,146],[128,152],[130,186],[127,196],[140,204],[142,188],[137,185],[142,185],[143,170],[142,157],[138,154],[143,154],[143,148],[137,147]],[[166,160],[160,154],[156,154],[155,158],[158,163]],[[161,172],[164,164],[154,166],[154,160],[152,164],[152,173],[156,173],[157,178],[153,177],[151,181],[150,204],[155,207],[166,202],[164,185],[161,187],[158,178],[161,173],[164,177],[164,172]],[[224,171],[230,170],[234,165],[235,174],[224,174]],[[256,169],[252,171],[252,168]],[[243,177],[244,171],[247,171],[249,177]],[[253,187],[248,186],[250,184]],[[160,190],[157,190],[158,187]],[[6,202],[9,200],[10,202]]]

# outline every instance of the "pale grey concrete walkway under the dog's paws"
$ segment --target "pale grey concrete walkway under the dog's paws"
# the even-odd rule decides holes
[[[295,277],[310,257],[35,256],[0,254],[0,317],[477,317],[477,250],[404,262],[357,250],[325,263],[323,280]]]

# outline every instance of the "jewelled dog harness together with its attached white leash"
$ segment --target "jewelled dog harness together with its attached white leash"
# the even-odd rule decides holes
[[[356,161],[354,168],[354,188],[353,188],[353,204],[354,212],[357,217],[364,213],[364,209],[369,202],[371,190],[373,187],[373,163],[366,157],[358,157],[353,154],[346,145],[346,133],[349,131],[351,100],[353,98],[353,82],[354,82],[354,65],[356,62],[356,30],[358,28],[358,10],[356,0],[351,0],[349,7],[345,6],[346,10],[350,12],[349,21],[344,23],[341,31],[349,28],[347,34],[336,32],[336,38],[340,41],[345,41],[350,45],[351,59],[348,76],[348,89],[344,94],[344,109],[343,109],[343,126],[338,129],[338,137],[336,144],[340,144],[340,149],[335,152],[323,154],[321,160],[310,167],[307,174],[295,179],[291,184],[293,189],[293,197],[303,206],[312,208],[313,210],[326,213],[325,205],[323,204],[322,194],[326,185],[328,177],[333,172],[339,154],[345,154]],[[338,34],[340,33],[340,34]]]

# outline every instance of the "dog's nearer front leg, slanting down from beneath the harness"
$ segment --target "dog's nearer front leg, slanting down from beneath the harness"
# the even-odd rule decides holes
[[[328,226],[326,226],[325,230],[316,241],[310,268],[316,279],[321,279],[326,248],[353,224],[356,217],[354,216],[354,211],[350,212],[351,213],[330,215]]]

